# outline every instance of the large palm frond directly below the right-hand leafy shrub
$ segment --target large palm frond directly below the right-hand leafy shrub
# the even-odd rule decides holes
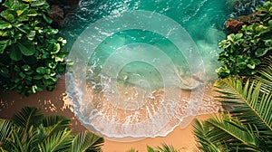
[[[261,83],[248,80],[245,85],[235,79],[216,81],[214,86],[221,95],[219,99],[225,106],[231,106],[229,112],[246,124],[255,124],[259,133],[272,137],[272,93],[260,93]]]

